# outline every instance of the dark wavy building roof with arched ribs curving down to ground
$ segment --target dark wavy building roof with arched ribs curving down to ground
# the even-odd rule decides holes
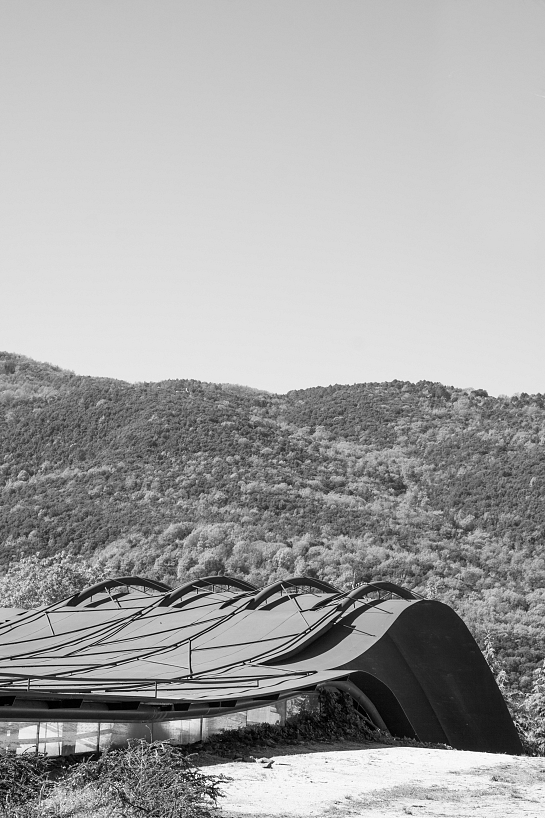
[[[172,590],[106,579],[0,610],[0,720],[214,716],[335,687],[393,735],[520,753],[494,677],[449,608],[389,582],[312,577],[261,590],[204,577]]]

